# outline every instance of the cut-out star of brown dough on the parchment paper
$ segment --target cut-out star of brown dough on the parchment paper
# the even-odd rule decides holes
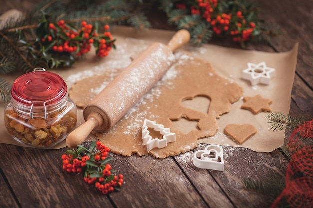
[[[261,111],[271,112],[269,105],[272,103],[272,100],[263,98],[260,94],[254,97],[243,97],[243,101],[245,103],[241,105],[241,108],[250,110],[254,114],[258,114]]]

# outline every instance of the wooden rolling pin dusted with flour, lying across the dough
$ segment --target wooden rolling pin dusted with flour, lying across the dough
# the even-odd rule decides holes
[[[187,30],[179,30],[167,45],[153,43],[109,83],[85,108],[85,123],[66,138],[70,148],[77,147],[94,129],[106,132],[162,78],[173,64],[173,52],[190,39]]]

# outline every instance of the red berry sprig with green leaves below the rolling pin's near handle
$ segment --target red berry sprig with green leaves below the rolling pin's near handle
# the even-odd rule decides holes
[[[76,150],[67,150],[62,155],[63,169],[68,173],[83,174],[83,179],[103,194],[119,191],[124,183],[122,174],[113,175],[112,166],[108,163],[112,158],[107,157],[109,147],[100,141],[91,142],[90,149],[78,145]]]

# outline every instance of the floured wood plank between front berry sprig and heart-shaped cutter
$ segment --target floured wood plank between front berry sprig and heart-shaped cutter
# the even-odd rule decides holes
[[[117,207],[208,207],[172,158],[114,156],[114,168],[122,171],[125,184],[111,198]]]

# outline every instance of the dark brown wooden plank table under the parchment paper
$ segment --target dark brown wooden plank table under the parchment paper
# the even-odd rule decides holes
[[[31,5],[18,2],[7,1],[7,9]],[[313,2],[258,0],[257,3],[263,10],[261,18],[277,25],[283,35],[269,45],[250,45],[248,49],[285,52],[299,42],[290,114],[312,118]],[[172,29],[158,12],[150,12],[149,17],[154,28]],[[228,40],[215,39],[210,44],[238,47]],[[289,134],[287,132],[287,136]],[[197,149],[203,148],[200,145]],[[0,207],[269,207],[273,199],[245,190],[242,181],[248,177],[266,181],[275,173],[284,175],[287,164],[283,155],[279,150],[261,153],[223,148],[225,171],[196,168],[189,158],[197,149],[166,159],[110,153],[114,159],[112,166],[124,175],[125,183],[122,191],[105,196],[85,183],[81,176],[62,170],[61,155],[67,148],[40,150],[0,144]]]

